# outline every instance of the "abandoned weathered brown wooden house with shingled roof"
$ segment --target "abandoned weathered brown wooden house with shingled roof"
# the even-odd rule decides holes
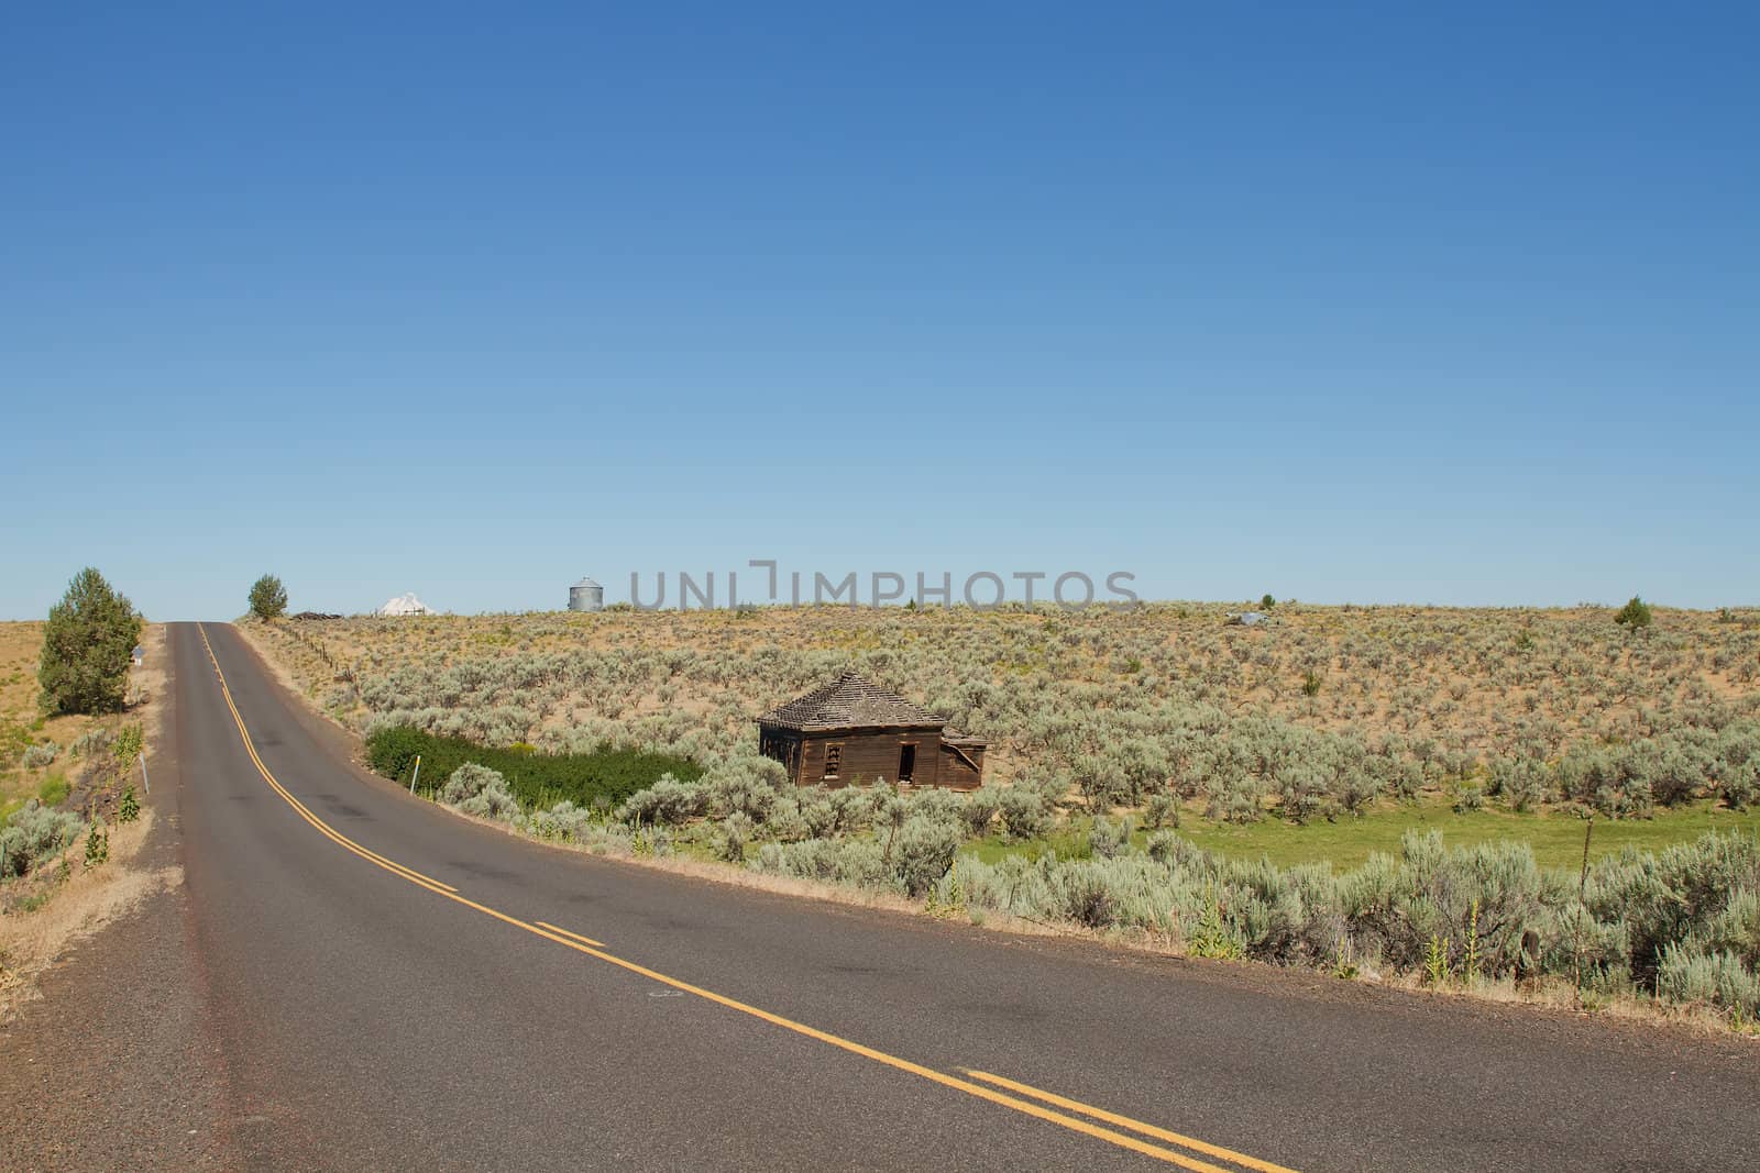
[[[984,739],[947,728],[854,672],[759,718],[759,751],[797,786],[885,779],[972,790],[984,781]]]

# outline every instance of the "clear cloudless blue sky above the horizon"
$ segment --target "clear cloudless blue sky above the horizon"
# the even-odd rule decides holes
[[[368,12],[363,12],[368,9]],[[1760,601],[1751,5],[37,5],[0,616]]]

